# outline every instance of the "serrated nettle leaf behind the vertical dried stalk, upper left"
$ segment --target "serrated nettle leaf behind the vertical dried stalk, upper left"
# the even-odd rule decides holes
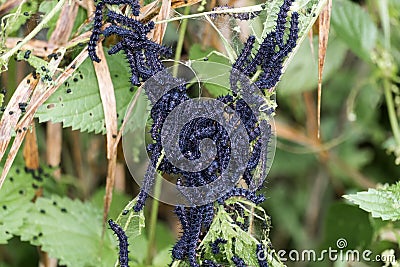
[[[107,63],[113,79],[117,101],[118,125],[121,125],[126,108],[133,97],[129,82],[130,70],[122,54],[108,56]],[[146,110],[142,110],[144,114]],[[141,114],[135,114],[135,116]],[[62,122],[81,132],[104,134],[106,131],[103,106],[93,63],[88,58],[74,74],[41,106],[36,116],[40,122]]]

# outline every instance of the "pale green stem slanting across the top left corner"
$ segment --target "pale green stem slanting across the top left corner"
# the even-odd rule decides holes
[[[8,50],[7,53],[1,56],[0,63],[6,65],[6,62],[8,62],[9,58],[12,55],[14,55],[18,50],[20,50],[24,44],[26,44],[29,40],[35,37],[36,34],[38,34],[47,25],[47,23],[56,15],[56,13],[61,10],[64,3],[65,0],[60,0],[57,3],[57,5],[42,19],[42,21],[21,42],[17,43],[16,46],[14,46],[10,50]]]

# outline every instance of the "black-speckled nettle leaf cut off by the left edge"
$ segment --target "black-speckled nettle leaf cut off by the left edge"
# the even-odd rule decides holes
[[[36,188],[41,185],[41,179],[37,171],[11,168],[0,190],[0,244],[6,244],[13,235],[18,234],[28,210],[33,206],[31,200]]]

